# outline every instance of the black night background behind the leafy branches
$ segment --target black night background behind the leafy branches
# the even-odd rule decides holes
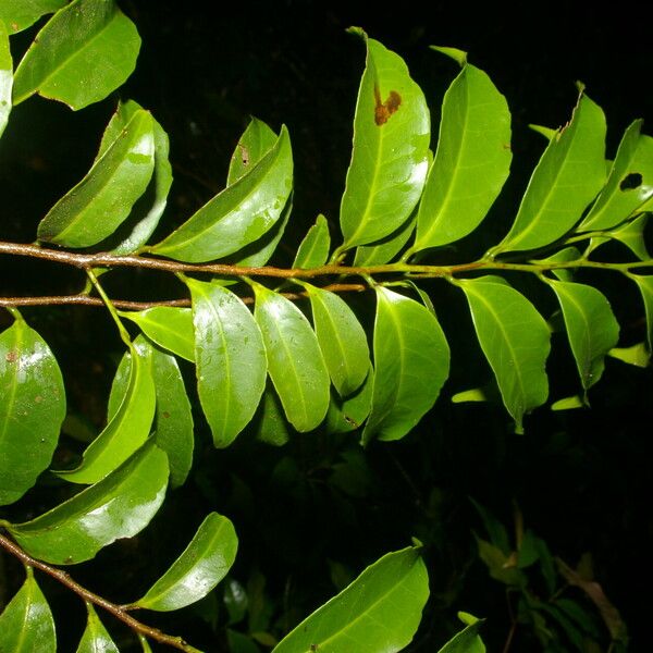
[[[350,25],[404,57],[426,93],[434,132],[443,93],[457,66],[429,45],[467,50],[470,61],[506,95],[513,111],[514,162],[501,199],[507,209],[496,217],[497,229],[509,224],[544,146],[528,124],[566,123],[577,98],[576,81],[586,84],[588,95],[606,112],[608,156],[632,120],[643,118],[644,132],[652,133],[646,127],[653,120],[651,22],[636,4],[615,3],[608,11],[597,4],[528,2],[509,10],[479,10],[461,2],[387,8],[289,0],[212,3],[211,9],[205,9],[209,3],[172,1],[120,4],[144,42],[137,69],[119,95],[150,109],[171,139],[175,181],[162,231],[169,232],[224,186],[229,158],[249,115],[274,130],[285,123],[293,140],[296,195],[285,248],[275,259],[280,264],[292,260],[294,246],[319,212],[330,219],[337,239],[365,66],[361,40],[346,33]],[[30,32],[23,45],[32,37]],[[15,47],[20,50],[22,42]],[[0,148],[3,239],[34,239],[38,220],[88,169],[115,100],[78,114],[40,99],[15,109]],[[7,294],[59,294],[76,291],[79,283],[76,274],[52,273],[46,264],[3,260],[0,266]],[[118,279],[112,288],[116,297],[168,291],[151,278],[130,286]],[[618,284],[608,284],[607,292],[618,305],[625,342],[641,340],[642,311],[634,293]],[[101,588],[115,583],[111,576],[120,566],[123,592],[131,582],[147,586],[150,579],[139,580],[139,572],[152,559],[170,559],[168,551],[158,553],[157,547],[164,549],[162,540],[168,538],[171,550],[183,541],[183,532],[170,532],[170,525],[186,521],[190,528],[207,509],[218,509],[234,520],[241,537],[235,577],[245,583],[252,568],[260,569],[269,593],[278,597],[278,609],[284,583],[292,578],[293,599],[306,614],[335,591],[326,559],[360,570],[418,535],[427,543],[433,599],[415,650],[436,650],[455,623],[455,611],[466,609],[489,617],[488,646],[500,651],[508,627],[504,590],[473,560],[470,528],[482,528],[467,497],[486,505],[507,525],[517,502],[527,525],[567,563],[592,554],[596,579],[629,627],[631,650],[648,651],[653,608],[651,370],[608,360],[605,378],[591,393],[591,410],[552,414],[541,408],[528,418],[527,435],[517,438],[503,409],[448,403],[454,392],[478,382],[476,374],[484,379],[488,372],[479,366],[475,346],[466,346],[470,334],[459,326],[466,320],[463,305],[447,295],[439,299],[459,371],[415,433],[402,443],[370,447],[372,481],[360,496],[337,503],[316,491],[316,483],[331,478],[343,451],[355,448],[346,441],[297,436],[275,449],[245,436],[226,452],[215,452],[206,444],[198,418],[195,479],[173,494],[169,523],[165,516],[158,518],[157,535],[144,535],[133,550],[102,554],[104,571],[99,576],[97,566],[82,566],[78,574]],[[446,304],[443,309],[448,300],[451,310]],[[120,343],[103,318],[89,309],[44,313],[26,311],[58,354],[72,405],[99,423]],[[564,362],[565,344],[556,342],[563,360],[552,362],[553,398],[564,396],[560,389],[567,385],[572,392],[575,383],[574,369]],[[279,469],[288,460],[296,460],[299,470],[296,478],[281,475],[281,482]],[[134,556],[140,562],[134,563]],[[161,562],[159,568],[164,566]],[[120,586],[113,591],[120,596]],[[65,605],[62,597],[58,609]],[[201,638],[209,638],[204,621],[194,616],[182,618],[177,631],[183,628],[199,646]],[[532,651],[537,644],[526,633],[510,650]]]

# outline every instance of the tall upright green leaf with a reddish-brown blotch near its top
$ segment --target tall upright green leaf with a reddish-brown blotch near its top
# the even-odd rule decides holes
[[[393,233],[421,195],[430,140],[424,96],[403,59],[356,30],[367,45],[354,118],[354,149],[341,206],[344,249]]]

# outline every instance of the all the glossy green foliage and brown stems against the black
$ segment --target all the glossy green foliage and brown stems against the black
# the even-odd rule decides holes
[[[14,66],[9,35],[50,13]],[[291,268],[268,264],[292,213],[293,153],[285,126],[276,133],[257,119],[235,147],[225,188],[176,229],[160,224],[172,183],[168,136],[133,100],[119,103],[90,170],[42,218],[37,243],[0,243],[3,254],[82,270],[84,288],[70,303],[103,305],[124,343],[104,428],[97,436],[78,436],[85,449],[77,447],[69,459],[57,456],[60,464],[51,467],[58,445],[70,448],[60,441],[66,415],[62,374],[19,310],[28,303],[2,300],[13,324],[0,335],[0,502],[12,509],[0,519],[10,535],[0,535],[0,544],[24,563],[26,580],[0,616],[0,650],[56,645],[54,618],[34,569],[86,602],[79,651],[116,650],[111,626],[104,627],[96,608],[126,624],[143,650],[149,650],[148,639],[196,650],[136,620],[133,612],[176,612],[193,604],[211,612],[208,602],[221,581],[230,616],[223,637],[231,651],[257,651],[259,644],[280,652],[402,650],[415,637],[429,596],[419,542],[383,555],[357,578],[341,569],[342,591],[306,619],[294,615],[283,629],[266,614],[256,570],[247,591],[229,577],[238,525],[217,512],[186,537],[168,571],[123,605],[56,566],[90,560],[116,540],[144,532],[164,509],[167,495],[170,500],[168,486],[199,476],[193,467],[194,408],[220,449],[245,433],[273,445],[311,438],[299,434],[312,431],[354,433],[364,447],[404,439],[432,410],[457,366],[447,342],[452,334],[440,323],[441,286],[466,303],[488,364],[488,386],[460,392],[454,401],[498,397],[516,433],[523,433],[529,414],[549,399],[546,364],[556,329],[568,338],[578,381],[575,394],[558,398],[554,409],[589,405],[608,355],[648,364],[653,276],[644,227],[653,196],[653,139],[641,134],[641,121],[626,131],[607,163],[605,116],[580,87],[567,125],[539,127],[547,145],[506,235],[466,259],[468,248],[460,243],[494,218],[493,205],[509,175],[507,102],[465,52],[435,48],[460,72],[443,98],[431,153],[429,108],[405,62],[361,29],[353,32],[365,42],[367,63],[340,245],[332,247],[331,223],[320,214]],[[35,94],[73,110],[106,98],[133,71],[139,42],[112,0],[3,3],[0,130],[10,122],[12,104]],[[161,230],[164,235],[150,244]],[[454,262],[445,262],[452,256]],[[137,307],[113,299],[107,288],[120,268],[168,273],[183,285],[184,297]],[[603,279],[592,275],[596,270],[625,279],[641,294],[646,329],[637,355],[618,347],[619,324],[596,287]],[[367,289],[373,292],[360,301],[344,298]],[[196,392],[186,392],[188,368]],[[333,477],[355,494],[366,483],[365,457],[353,448],[343,457]],[[292,478],[292,465],[286,458],[286,469],[275,472]],[[21,516],[20,500],[44,483],[57,488],[61,501],[36,517]],[[503,527],[485,520],[498,535],[478,540],[480,557],[493,578],[519,593],[518,620],[528,620],[547,650],[558,650],[551,648],[557,641],[551,621],[579,650],[583,636],[600,639],[580,604],[558,595],[544,542],[526,531],[517,563],[507,565],[513,552]],[[535,562],[547,583],[545,600],[535,597],[523,571]],[[568,582],[574,578],[582,586],[572,570],[566,574]],[[233,628],[245,615],[247,637]],[[482,621],[461,619],[466,627],[442,651],[483,651]]]

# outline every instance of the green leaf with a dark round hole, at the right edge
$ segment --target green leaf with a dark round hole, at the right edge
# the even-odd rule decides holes
[[[642,124],[636,120],[624,133],[605,188],[579,231],[613,229],[653,197],[653,138],[640,134]]]

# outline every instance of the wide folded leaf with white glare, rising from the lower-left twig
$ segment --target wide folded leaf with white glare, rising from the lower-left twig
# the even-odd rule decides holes
[[[115,540],[140,532],[163,503],[168,457],[148,440],[118,469],[48,513],[7,525],[32,556],[74,565]]]

